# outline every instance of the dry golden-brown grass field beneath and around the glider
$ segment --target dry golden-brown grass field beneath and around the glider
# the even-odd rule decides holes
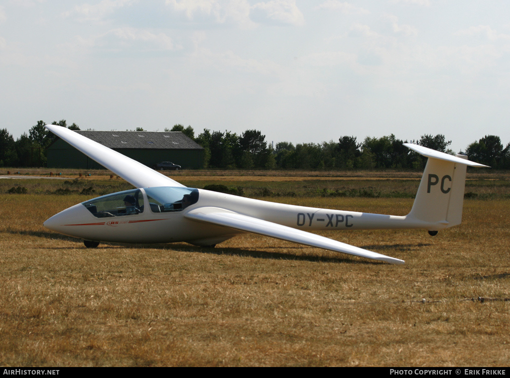
[[[419,174],[370,183],[269,176],[178,180],[403,215],[413,199],[390,194],[414,191]],[[90,180],[58,195],[73,184],[0,180],[0,366],[508,366],[510,183],[497,174],[470,178],[463,223],[436,237],[323,233],[405,260],[399,266],[251,234],[216,248],[86,249],[43,221],[124,184]],[[89,185],[94,194],[80,195]],[[7,194],[15,186],[28,193]],[[328,195],[367,186],[387,189],[378,198]]]

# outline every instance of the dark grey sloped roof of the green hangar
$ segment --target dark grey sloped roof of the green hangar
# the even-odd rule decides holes
[[[180,131],[77,131],[108,148],[203,149]]]

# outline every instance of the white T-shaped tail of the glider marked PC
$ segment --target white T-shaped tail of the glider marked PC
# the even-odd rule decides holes
[[[428,157],[413,208],[408,217],[430,223],[429,231],[438,231],[462,221],[466,168],[487,167],[467,160],[463,155],[448,155],[439,151],[404,143]]]

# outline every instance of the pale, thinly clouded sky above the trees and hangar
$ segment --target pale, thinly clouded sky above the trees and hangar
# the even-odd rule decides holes
[[[503,0],[2,0],[0,128],[510,142]]]

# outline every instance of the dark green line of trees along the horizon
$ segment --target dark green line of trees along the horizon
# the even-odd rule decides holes
[[[67,125],[62,119],[54,121],[61,127],[80,130],[75,123]],[[57,138],[38,121],[17,140],[7,131],[0,130],[0,167],[28,167],[46,165],[46,148]],[[144,131],[137,128],[136,131]],[[405,147],[406,141],[395,135],[366,137],[358,142],[354,136],[341,136],[338,141],[322,143],[278,142],[267,143],[266,136],[258,130],[246,130],[238,135],[230,131],[204,129],[195,136],[191,126],[175,124],[165,131],[179,131],[193,139],[204,150],[204,166],[217,169],[423,169],[425,158]],[[422,135],[410,140],[441,152],[454,154],[449,149],[451,141],[442,134]],[[462,152],[461,152],[462,153]],[[486,135],[466,147],[469,159],[496,169],[510,169],[510,143],[503,147],[495,135]]]

